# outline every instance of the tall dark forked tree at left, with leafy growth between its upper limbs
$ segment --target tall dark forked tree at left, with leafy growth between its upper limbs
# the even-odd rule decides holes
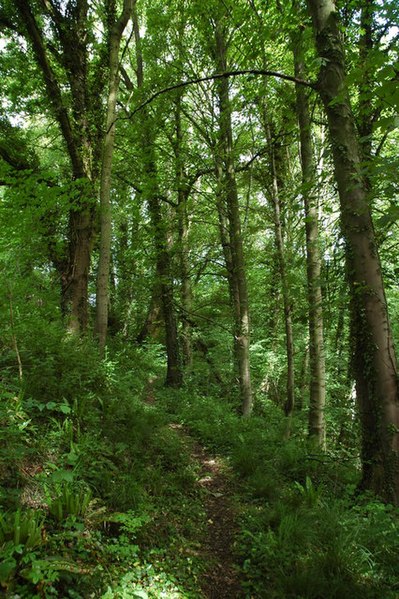
[[[89,84],[91,35],[87,0],[69,1],[64,9],[54,0],[43,2],[41,7],[50,22],[47,30],[40,25],[43,14],[35,3],[17,0],[15,6],[21,29],[26,31],[41,70],[49,105],[62,132],[72,178],[79,193],[69,211],[68,257],[60,264],[64,267],[61,273],[63,305],[70,305],[69,327],[75,332],[84,331],[88,324],[88,277],[101,146],[102,64],[100,60],[96,66],[97,89],[94,90]],[[47,39],[50,32],[54,43]],[[61,76],[58,75],[59,67],[63,72]],[[64,76],[70,102],[63,93]]]

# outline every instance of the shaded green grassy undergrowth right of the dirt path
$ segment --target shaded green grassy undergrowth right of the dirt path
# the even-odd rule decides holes
[[[163,396],[172,417],[235,473],[243,597],[398,596],[399,511],[356,494],[356,455],[315,450],[301,415],[284,439],[284,418],[271,402],[242,419],[229,399]]]

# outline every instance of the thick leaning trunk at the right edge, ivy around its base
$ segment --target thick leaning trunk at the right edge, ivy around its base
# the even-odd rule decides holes
[[[397,362],[346,84],[339,16],[332,0],[308,0],[308,5],[322,59],[318,88],[328,117],[346,240],[353,367],[363,429],[361,486],[398,504]]]

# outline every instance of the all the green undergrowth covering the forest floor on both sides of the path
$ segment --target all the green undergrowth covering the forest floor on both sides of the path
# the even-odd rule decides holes
[[[316,451],[301,415],[287,440],[271,402],[242,419],[220,390],[166,390],[157,346],[100,361],[53,327],[20,353],[22,381],[1,355],[6,597],[202,596],[204,497],[171,423],[231,466],[244,598],[397,597],[397,509],[356,495],[357,457]]]

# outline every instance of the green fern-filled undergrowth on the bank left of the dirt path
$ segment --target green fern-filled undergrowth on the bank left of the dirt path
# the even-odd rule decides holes
[[[146,401],[148,376],[162,367],[157,348],[99,361],[89,341],[50,333],[40,346],[21,344],[20,384],[1,380],[3,593],[200,596],[195,464]]]

